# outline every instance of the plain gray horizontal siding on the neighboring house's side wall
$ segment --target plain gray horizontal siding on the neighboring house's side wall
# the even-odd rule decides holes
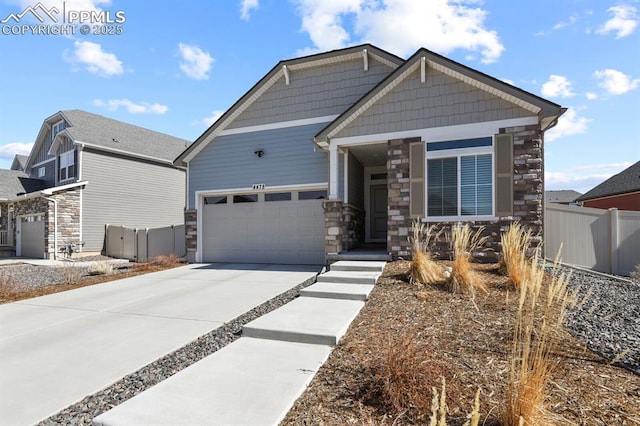
[[[170,167],[84,150],[82,239],[99,251],[105,224],[157,228],[184,222],[185,174]]]

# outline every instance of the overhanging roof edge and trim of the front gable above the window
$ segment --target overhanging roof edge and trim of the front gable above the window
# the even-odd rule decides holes
[[[543,130],[552,127],[558,117],[566,111],[566,108],[558,104],[469,68],[442,55],[438,55],[428,49],[420,48],[407,59],[402,66],[398,67],[387,76],[387,78],[383,79],[377,86],[371,89],[369,93],[365,94],[358,102],[322,129],[314,137],[314,142],[321,147],[326,147],[328,145],[328,139],[364,113],[378,99],[396,87],[404,78],[423,66],[422,63],[424,63],[425,67],[432,67],[480,90],[489,92],[532,113],[538,114],[542,122]]]

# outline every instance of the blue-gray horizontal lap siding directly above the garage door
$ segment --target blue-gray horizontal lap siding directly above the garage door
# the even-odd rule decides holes
[[[327,182],[328,155],[311,141],[325,125],[217,137],[189,163],[190,208],[196,191]],[[259,149],[262,158],[254,154]]]

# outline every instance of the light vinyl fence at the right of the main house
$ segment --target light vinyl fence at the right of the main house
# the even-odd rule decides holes
[[[548,203],[544,253],[599,272],[629,275],[640,264],[640,212]]]

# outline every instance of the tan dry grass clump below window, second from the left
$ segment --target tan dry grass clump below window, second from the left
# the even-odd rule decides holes
[[[486,290],[485,284],[473,271],[473,252],[479,250],[487,241],[482,236],[484,227],[475,231],[469,224],[457,223],[451,231],[453,265],[451,275],[446,282],[447,289],[453,293],[475,295],[476,289]]]

